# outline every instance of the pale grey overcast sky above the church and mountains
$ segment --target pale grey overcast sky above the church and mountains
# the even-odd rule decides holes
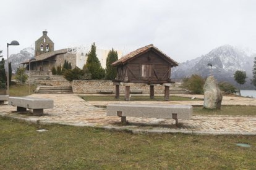
[[[1,0],[0,50],[35,44],[43,30],[54,49],[90,45],[124,52],[154,44],[177,62],[230,44],[256,50],[256,1]]]

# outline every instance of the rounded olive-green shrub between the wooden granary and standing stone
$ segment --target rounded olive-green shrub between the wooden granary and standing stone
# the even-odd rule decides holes
[[[205,79],[200,75],[192,75],[190,78],[183,79],[183,87],[191,91],[193,94],[203,94],[204,84]]]

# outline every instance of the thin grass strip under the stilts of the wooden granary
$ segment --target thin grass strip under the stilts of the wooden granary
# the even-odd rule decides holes
[[[114,95],[81,95],[86,101],[124,101],[124,95],[115,99]],[[171,96],[171,101],[202,101],[203,99],[190,99],[189,97]],[[132,95],[130,101],[164,101],[164,96],[155,95],[155,99],[150,99],[149,95]]]

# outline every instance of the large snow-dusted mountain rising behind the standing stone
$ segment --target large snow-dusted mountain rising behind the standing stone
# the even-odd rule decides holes
[[[254,57],[255,54],[249,56],[243,50],[230,45],[220,46],[206,55],[180,63],[179,66],[173,68],[171,78],[190,77],[192,74],[205,78],[212,72],[218,81],[228,81],[237,86],[238,84],[234,81],[234,72],[242,70],[246,71],[248,77],[247,83],[242,88],[250,89],[252,88],[250,79],[252,78]],[[208,66],[208,63],[212,67]]]

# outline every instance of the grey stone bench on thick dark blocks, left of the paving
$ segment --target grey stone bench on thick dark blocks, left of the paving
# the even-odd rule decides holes
[[[17,107],[17,111],[33,109],[33,115],[43,115],[43,109],[53,108],[53,100],[36,97],[9,97],[9,105]]]

